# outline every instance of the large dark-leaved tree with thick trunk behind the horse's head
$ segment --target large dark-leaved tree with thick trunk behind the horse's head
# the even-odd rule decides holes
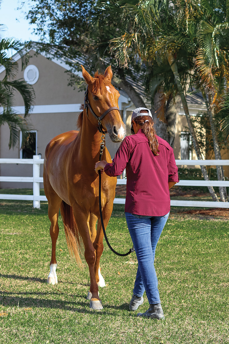
[[[134,6],[137,1],[130,0],[128,3]],[[35,49],[64,57],[72,72],[81,70],[75,63],[76,59],[82,59],[91,73],[96,69],[102,71],[111,64],[114,85],[123,89],[136,107],[152,104],[159,117],[156,124],[159,135],[173,145],[176,115],[181,106],[176,86],[168,88],[168,92],[160,98],[163,80],[161,76],[158,79],[157,70],[149,72],[149,68],[135,57],[129,61],[129,68],[123,68],[109,48],[109,42],[114,37],[133,31],[133,18],[126,11],[125,4],[125,0],[38,0],[27,15],[30,22],[37,25],[36,32],[42,35],[44,41],[39,49],[36,44]],[[82,80],[73,74],[69,83],[82,86]],[[133,84],[142,85],[141,92]]]

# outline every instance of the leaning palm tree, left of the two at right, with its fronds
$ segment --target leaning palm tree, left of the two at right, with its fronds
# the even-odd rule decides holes
[[[185,98],[185,87],[192,81],[194,57],[197,46],[197,23],[202,13],[196,1],[189,6],[187,1],[171,2],[166,0],[139,1],[137,6],[128,6],[135,22],[133,32],[126,33],[111,41],[111,49],[119,63],[126,66],[134,55],[146,62],[169,63],[178,88],[188,127],[192,136],[197,158],[202,160],[198,140],[190,118]],[[193,20],[196,20],[196,25]],[[194,22],[195,23],[195,22]],[[185,72],[181,74],[181,69]],[[182,78],[182,79],[181,79]],[[209,180],[206,166],[201,166],[205,180]],[[214,201],[218,197],[212,186],[208,190]]]

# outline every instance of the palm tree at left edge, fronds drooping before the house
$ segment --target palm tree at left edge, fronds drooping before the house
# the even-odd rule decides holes
[[[22,68],[24,68],[27,63],[27,56],[22,54],[21,48],[21,44],[13,39],[0,40],[0,65],[5,67],[5,76],[0,81],[0,105],[3,107],[3,112],[0,114],[0,126],[8,124],[10,128],[9,148],[16,146],[20,130],[22,132],[22,142],[26,140],[31,127],[24,117],[28,116],[32,110],[35,98],[31,85],[27,84],[24,79],[15,79],[18,72],[18,63],[7,54],[11,49],[16,50],[21,55]],[[14,90],[17,90],[23,98],[25,105],[24,117],[16,114],[12,109]]]

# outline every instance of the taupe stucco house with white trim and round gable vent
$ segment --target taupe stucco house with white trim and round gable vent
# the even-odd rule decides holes
[[[33,85],[35,91],[35,106],[28,117],[32,125],[31,132],[31,152],[20,149],[20,144],[14,149],[9,149],[9,128],[7,125],[0,127],[0,158],[29,158],[30,154],[41,154],[44,158],[45,147],[51,138],[56,135],[77,129],[76,122],[80,114],[80,105],[83,103],[84,92],[74,90],[68,86],[69,66],[64,60],[51,57],[45,54],[36,54],[31,50],[29,64],[24,71],[21,71],[21,57],[19,54],[13,56],[14,60],[19,63],[19,72],[17,78],[24,78],[28,83]],[[0,66],[0,80],[4,77],[4,67]],[[81,72],[78,74],[82,76]],[[85,85],[86,87],[86,85]],[[119,90],[119,109],[121,116],[127,126],[130,124],[130,116],[135,106],[128,99],[128,96]],[[200,110],[206,111],[203,100],[195,96],[188,96],[187,99],[190,113],[197,114]],[[15,93],[14,110],[18,114],[24,114],[23,100],[19,93]],[[1,108],[0,108],[1,111]],[[188,140],[185,137],[185,127],[187,127],[184,111],[181,108],[179,119],[176,126],[176,137],[174,141],[174,154],[176,159],[195,159],[195,155],[189,154]],[[183,136],[182,136],[183,135]],[[117,145],[113,144],[108,135],[106,136],[106,145],[111,153],[111,157],[117,150]],[[43,174],[43,165],[41,165],[41,176]],[[32,165],[9,165],[0,164],[1,176],[31,176]],[[31,183],[12,183],[1,182],[0,188],[8,187],[31,187]],[[41,187],[43,185],[41,184]]]

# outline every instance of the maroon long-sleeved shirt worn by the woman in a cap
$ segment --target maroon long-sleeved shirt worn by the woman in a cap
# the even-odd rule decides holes
[[[163,216],[170,211],[168,182],[179,182],[178,168],[172,147],[158,137],[159,155],[154,155],[140,129],[127,136],[104,171],[109,176],[120,175],[126,169],[125,212]]]

